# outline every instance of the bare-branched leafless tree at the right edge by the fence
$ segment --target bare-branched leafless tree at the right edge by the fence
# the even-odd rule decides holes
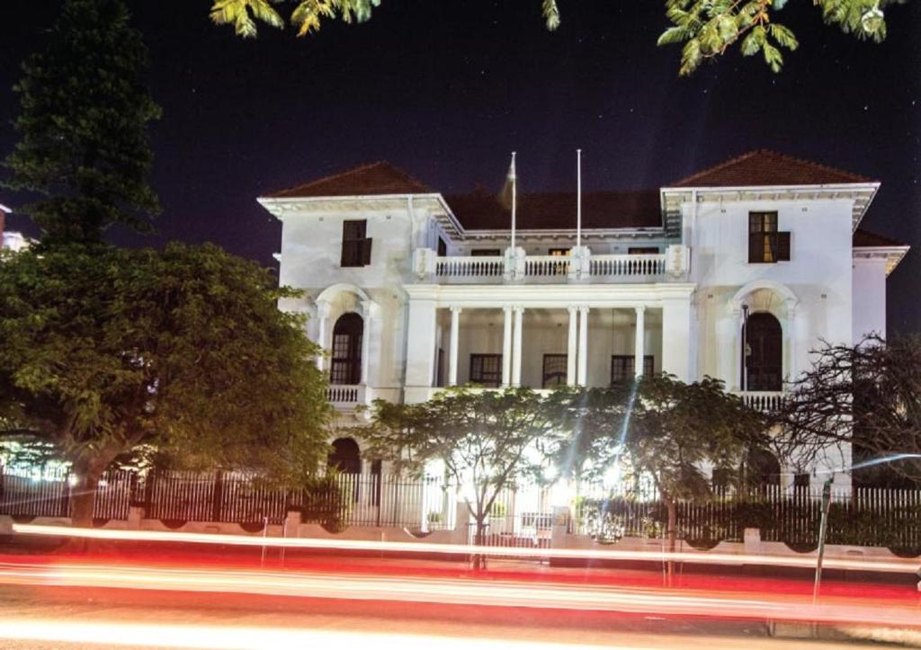
[[[813,354],[779,414],[789,453],[808,464],[829,448],[851,447],[865,480],[921,481],[921,336],[826,342]]]

